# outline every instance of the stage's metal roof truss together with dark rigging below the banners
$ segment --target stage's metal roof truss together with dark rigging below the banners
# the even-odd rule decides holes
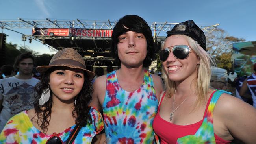
[[[16,28],[81,28],[81,29],[102,29],[113,30],[116,25],[116,20],[0,20],[0,27],[3,29],[15,31]],[[148,22],[152,30],[154,42],[157,47],[160,48],[161,43],[165,40],[165,37],[161,36],[163,32],[171,30],[178,23],[169,22]],[[209,33],[215,30],[219,24],[206,24],[198,26],[205,32]],[[20,33],[19,31],[15,31]],[[71,47],[76,49],[87,61],[114,61],[110,53],[110,41],[111,37],[74,37],[69,36],[54,36],[54,35],[26,35],[23,33],[22,39],[26,41],[26,37],[29,41],[36,40],[48,46],[50,50],[61,50],[65,47]],[[165,35],[165,34],[164,34]],[[159,49],[158,48],[158,49]]]

